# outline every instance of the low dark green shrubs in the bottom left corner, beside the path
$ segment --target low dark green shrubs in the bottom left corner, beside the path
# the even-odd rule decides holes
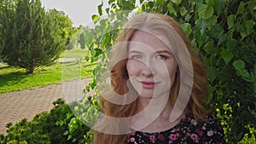
[[[41,112],[31,122],[7,124],[8,135],[0,135],[0,143],[84,143],[90,128],[74,117],[70,107],[59,99],[50,112]],[[71,127],[77,125],[75,129]]]

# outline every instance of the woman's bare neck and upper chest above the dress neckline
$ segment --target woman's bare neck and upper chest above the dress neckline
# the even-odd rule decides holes
[[[171,122],[171,112],[172,105],[169,95],[154,99],[139,97],[137,99],[137,114],[131,119],[131,128],[145,132],[168,130],[176,125],[181,118]]]

